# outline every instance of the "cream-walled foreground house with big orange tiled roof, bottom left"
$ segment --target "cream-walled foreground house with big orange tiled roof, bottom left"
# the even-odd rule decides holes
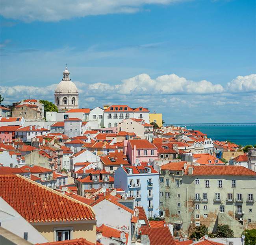
[[[48,241],[83,237],[96,243],[96,214],[89,205],[19,175],[0,176],[0,182],[0,196]]]

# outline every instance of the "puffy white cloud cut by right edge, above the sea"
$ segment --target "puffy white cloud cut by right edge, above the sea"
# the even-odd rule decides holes
[[[256,92],[256,74],[238,76],[227,84],[228,91],[233,93]]]

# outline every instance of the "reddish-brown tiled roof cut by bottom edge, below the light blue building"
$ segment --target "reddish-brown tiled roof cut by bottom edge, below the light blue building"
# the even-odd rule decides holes
[[[148,235],[150,245],[176,245],[169,227],[141,228],[141,235]]]

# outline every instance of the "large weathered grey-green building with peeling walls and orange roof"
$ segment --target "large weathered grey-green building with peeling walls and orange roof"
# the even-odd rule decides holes
[[[227,224],[239,237],[256,223],[255,181],[256,172],[243,166],[169,163],[161,166],[160,211],[176,232],[200,224],[215,232]]]

